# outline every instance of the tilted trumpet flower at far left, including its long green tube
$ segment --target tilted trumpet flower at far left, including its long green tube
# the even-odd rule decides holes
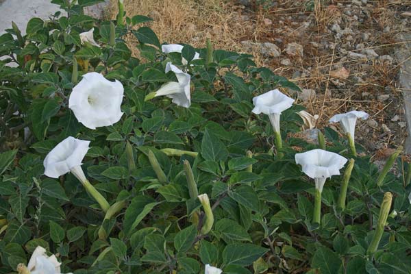
[[[84,188],[86,188],[87,192],[99,203],[101,209],[107,212],[110,204],[88,182],[82,169],[82,160],[88,151],[88,145],[90,145],[90,141],[79,140],[71,136],[62,140],[46,155],[43,162],[45,175],[51,178],[58,178],[68,172],[73,173]]]

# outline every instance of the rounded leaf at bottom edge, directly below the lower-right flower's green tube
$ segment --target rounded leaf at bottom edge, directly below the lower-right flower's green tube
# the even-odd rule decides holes
[[[338,255],[327,247],[319,247],[312,258],[312,266],[320,269],[321,274],[335,274],[341,266]]]

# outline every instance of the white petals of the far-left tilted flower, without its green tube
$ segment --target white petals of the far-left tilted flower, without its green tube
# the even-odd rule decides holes
[[[45,175],[58,178],[69,171],[76,172],[76,167],[82,165],[82,160],[88,151],[90,141],[67,137],[56,145],[47,154],[45,161]],[[84,176],[84,175],[83,175]]]

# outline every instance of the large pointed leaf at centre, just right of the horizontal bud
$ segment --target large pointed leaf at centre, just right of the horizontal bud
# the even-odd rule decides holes
[[[205,160],[219,162],[227,159],[228,151],[223,142],[206,129],[201,142],[201,155]]]

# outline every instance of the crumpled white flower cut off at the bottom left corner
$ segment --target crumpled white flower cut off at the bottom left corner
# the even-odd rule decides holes
[[[46,249],[39,246],[34,249],[27,268],[20,264],[17,269],[18,273],[22,274],[61,274],[60,265],[61,263],[58,262],[54,255],[47,256]]]

